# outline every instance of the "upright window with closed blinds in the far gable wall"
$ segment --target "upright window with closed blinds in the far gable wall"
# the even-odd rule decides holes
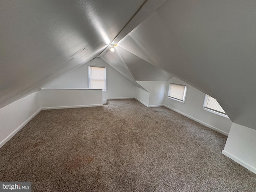
[[[89,67],[89,88],[106,91],[106,67]]]

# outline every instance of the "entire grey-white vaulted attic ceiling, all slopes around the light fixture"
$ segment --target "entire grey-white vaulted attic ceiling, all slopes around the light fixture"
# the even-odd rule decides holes
[[[2,1],[0,107],[100,56],[140,88],[176,76],[256,129],[255,10],[253,0]]]

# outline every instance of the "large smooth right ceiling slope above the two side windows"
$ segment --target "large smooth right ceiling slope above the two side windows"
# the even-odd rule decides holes
[[[145,60],[216,98],[232,122],[256,129],[255,10],[256,1],[169,0],[128,36]]]

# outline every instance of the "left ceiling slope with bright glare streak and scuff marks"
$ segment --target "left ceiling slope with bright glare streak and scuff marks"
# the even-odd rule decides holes
[[[98,56],[144,0],[0,3],[0,107]]]

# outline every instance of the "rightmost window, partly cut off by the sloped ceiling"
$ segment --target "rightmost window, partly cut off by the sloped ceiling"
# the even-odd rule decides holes
[[[205,96],[204,109],[228,118],[228,116],[226,115],[226,112],[222,109],[222,107],[217,102],[217,100],[212,98],[211,96],[208,96],[208,95]]]

